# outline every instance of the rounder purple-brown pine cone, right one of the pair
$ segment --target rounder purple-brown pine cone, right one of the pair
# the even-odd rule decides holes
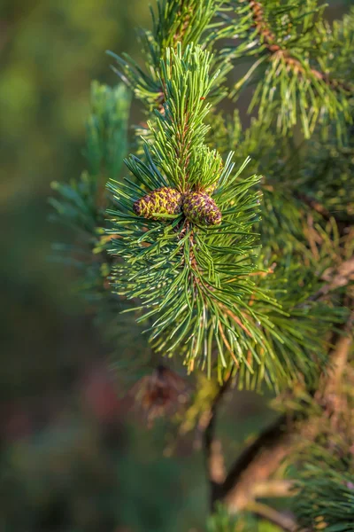
[[[221,211],[206,192],[189,192],[183,201],[183,213],[186,218],[199,225],[219,225]]]

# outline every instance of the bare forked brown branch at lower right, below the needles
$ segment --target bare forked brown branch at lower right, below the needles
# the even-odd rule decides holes
[[[321,403],[324,409],[335,408],[335,392],[339,390],[345,365],[347,363],[352,338],[354,311],[350,314],[346,325],[342,327],[343,335],[335,332],[335,348],[330,354],[333,364],[332,371],[323,375],[324,385],[319,391],[313,390],[311,395]],[[287,532],[295,532],[296,521],[291,517],[277,512],[272,507],[258,502],[258,497],[289,497],[293,489],[291,481],[269,480],[281,465],[284,458],[294,449],[296,434],[319,431],[320,423],[314,423],[302,411],[292,411],[281,415],[267,426],[236,458],[227,475],[224,473],[224,461],[220,442],[215,439],[215,423],[219,403],[225,394],[229,379],[219,387],[212,408],[209,412],[204,430],[204,452],[208,480],[211,487],[211,510],[221,501],[230,512],[245,510],[263,519],[269,520]],[[324,396],[327,402],[323,400]],[[301,420],[302,424],[299,425]]]

